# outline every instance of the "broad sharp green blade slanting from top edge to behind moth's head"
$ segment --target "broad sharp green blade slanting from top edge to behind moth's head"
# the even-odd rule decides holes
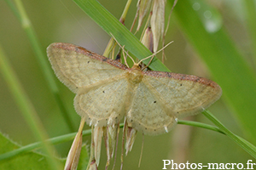
[[[73,0],[79,5],[86,14],[90,16],[102,29],[113,37],[125,48],[134,54],[138,59],[143,59],[152,53],[146,48],[137,37],[135,37],[119,20],[113,17],[106,8],[103,8],[96,0]],[[148,64],[150,59],[145,60]],[[166,65],[163,65],[159,59],[154,58],[149,67],[154,71],[169,71]]]

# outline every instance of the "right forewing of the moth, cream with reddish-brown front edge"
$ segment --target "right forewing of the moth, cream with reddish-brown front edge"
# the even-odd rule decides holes
[[[177,118],[200,113],[222,94],[218,84],[207,78],[161,71],[143,73],[143,81]]]

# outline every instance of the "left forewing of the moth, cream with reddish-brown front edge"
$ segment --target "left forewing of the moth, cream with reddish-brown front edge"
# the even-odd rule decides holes
[[[47,54],[56,76],[75,94],[97,82],[104,84],[127,69],[118,61],[70,43],[52,43]]]

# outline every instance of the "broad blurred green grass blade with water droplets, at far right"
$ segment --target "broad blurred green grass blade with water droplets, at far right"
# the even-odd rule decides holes
[[[214,32],[206,30],[199,12],[192,8],[193,2],[195,1],[189,0],[177,3],[174,9],[177,22],[223,89],[224,99],[255,144],[255,74],[223,27]],[[196,2],[205,6],[203,1]]]

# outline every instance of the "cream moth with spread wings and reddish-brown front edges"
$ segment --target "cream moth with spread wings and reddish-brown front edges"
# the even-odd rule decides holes
[[[70,43],[52,43],[47,54],[56,76],[76,94],[75,110],[90,126],[107,127],[125,116],[138,132],[165,133],[222,94],[207,78],[142,71],[137,64],[129,68]]]

